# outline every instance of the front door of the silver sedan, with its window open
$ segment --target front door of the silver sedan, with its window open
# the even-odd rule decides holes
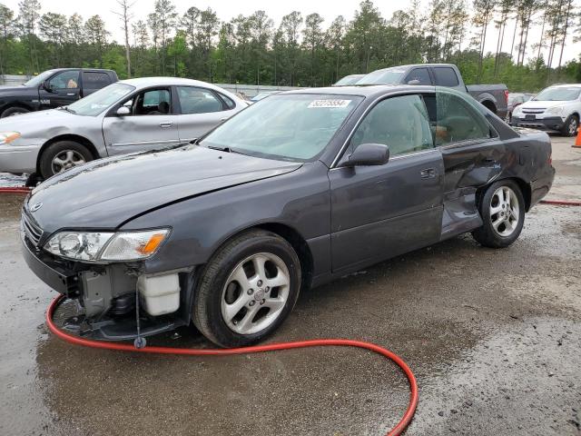
[[[129,115],[119,116],[119,106],[103,118],[103,138],[109,155],[159,150],[180,143],[170,86],[133,94],[123,104]]]

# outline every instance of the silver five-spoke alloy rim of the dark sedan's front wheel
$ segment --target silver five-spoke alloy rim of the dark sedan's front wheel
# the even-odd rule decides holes
[[[288,300],[291,275],[273,253],[257,253],[238,263],[222,289],[222,319],[232,332],[253,334],[275,322]]]

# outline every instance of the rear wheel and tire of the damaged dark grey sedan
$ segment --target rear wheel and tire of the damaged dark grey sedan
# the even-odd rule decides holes
[[[503,198],[510,199],[509,205],[504,203],[500,193]],[[525,223],[525,199],[517,183],[512,180],[492,183],[482,195],[478,209],[483,225],[472,232],[478,243],[485,247],[505,248],[517,241]]]

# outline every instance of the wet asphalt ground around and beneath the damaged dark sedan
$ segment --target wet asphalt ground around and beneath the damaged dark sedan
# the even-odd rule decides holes
[[[553,142],[550,196],[581,199],[581,150]],[[379,435],[399,421],[407,381],[369,352],[193,358],[59,341],[44,325],[55,292],[21,257],[22,200],[0,196],[0,435]],[[581,208],[538,205],[505,250],[463,235],[305,292],[270,342],[326,337],[409,363],[407,435],[581,435]],[[211,346],[191,329],[153,342]]]

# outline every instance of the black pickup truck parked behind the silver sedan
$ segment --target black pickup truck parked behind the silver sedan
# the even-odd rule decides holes
[[[65,106],[117,80],[113,70],[47,70],[20,86],[0,86],[0,118]]]

